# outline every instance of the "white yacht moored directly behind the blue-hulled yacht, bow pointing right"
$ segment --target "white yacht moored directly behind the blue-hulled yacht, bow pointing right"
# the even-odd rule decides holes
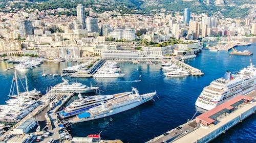
[[[51,92],[75,92],[75,93],[90,93],[95,92],[98,87],[88,87],[82,83],[69,82],[69,80],[62,78],[63,82],[52,87]]]

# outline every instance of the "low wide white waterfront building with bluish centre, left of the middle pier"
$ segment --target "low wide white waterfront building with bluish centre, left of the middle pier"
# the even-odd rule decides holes
[[[80,58],[80,50],[78,47],[59,47],[59,58],[73,59]]]

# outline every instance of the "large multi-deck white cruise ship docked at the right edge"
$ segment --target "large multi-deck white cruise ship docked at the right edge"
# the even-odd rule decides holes
[[[237,74],[226,72],[205,87],[196,101],[199,111],[210,110],[221,103],[255,90],[256,68],[251,64]]]

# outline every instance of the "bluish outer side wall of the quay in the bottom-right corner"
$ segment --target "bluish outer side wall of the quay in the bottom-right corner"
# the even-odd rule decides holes
[[[237,125],[238,123],[242,122],[244,119],[246,119],[247,117],[252,115],[252,113],[255,113],[255,110],[256,110],[256,106],[251,107],[249,110],[246,110],[245,112],[243,112],[242,114],[238,115],[236,118],[232,119],[231,121],[229,121],[228,123],[224,124],[220,128],[218,128],[216,130],[212,130],[211,133],[209,133],[206,136],[198,139],[197,143],[209,142],[209,141],[215,139],[216,137],[218,137],[222,133],[225,133],[231,127]],[[226,117],[226,118],[228,118],[228,117]]]

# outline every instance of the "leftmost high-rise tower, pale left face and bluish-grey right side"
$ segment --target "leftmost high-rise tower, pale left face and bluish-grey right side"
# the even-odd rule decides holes
[[[18,20],[17,21],[19,34],[21,39],[26,39],[27,35],[33,35],[32,22],[29,20]]]

